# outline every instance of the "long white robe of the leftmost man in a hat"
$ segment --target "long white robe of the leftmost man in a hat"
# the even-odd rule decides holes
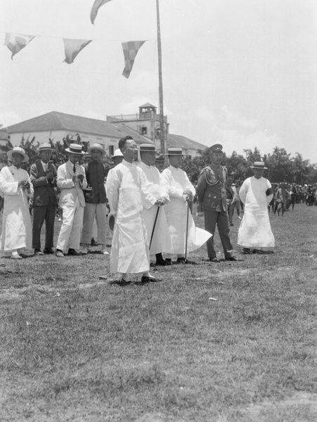
[[[18,186],[28,181],[30,189]],[[4,196],[1,250],[32,249],[32,225],[27,196],[33,195],[33,186],[26,170],[14,165],[3,167],[0,172],[0,191]]]

